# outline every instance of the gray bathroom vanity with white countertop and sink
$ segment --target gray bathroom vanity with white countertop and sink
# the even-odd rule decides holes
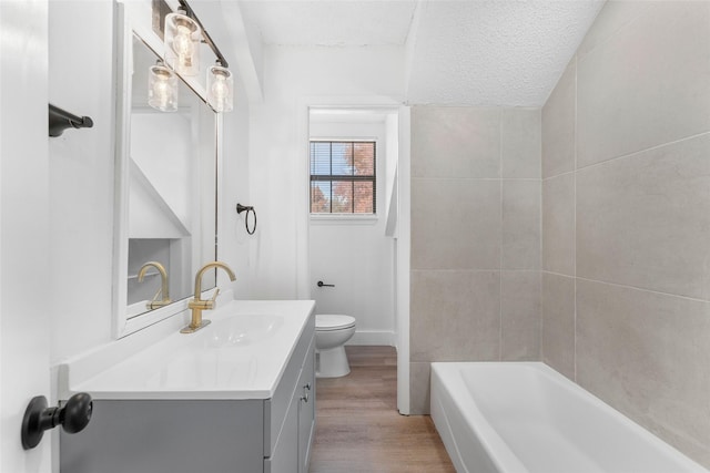
[[[60,435],[60,471],[306,473],[313,308],[230,301],[199,332],[139,332],[62,363],[60,399],[94,401],[89,426]]]

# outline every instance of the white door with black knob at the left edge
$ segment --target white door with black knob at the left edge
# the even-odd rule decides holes
[[[0,1],[0,472],[50,471],[20,425],[50,397],[48,0]],[[53,402],[53,400],[50,400]]]

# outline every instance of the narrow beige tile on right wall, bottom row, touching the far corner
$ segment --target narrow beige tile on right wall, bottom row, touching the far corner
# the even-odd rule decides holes
[[[542,273],[542,361],[575,380],[575,279]]]

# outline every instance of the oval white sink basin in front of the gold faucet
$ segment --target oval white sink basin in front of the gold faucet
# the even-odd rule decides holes
[[[283,316],[245,313],[212,321],[205,327],[205,348],[245,347],[271,338],[283,327]]]

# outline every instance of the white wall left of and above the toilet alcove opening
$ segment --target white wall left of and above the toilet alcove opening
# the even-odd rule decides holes
[[[403,55],[384,47],[266,47],[263,54],[264,102],[252,106],[250,123],[250,193],[260,222],[251,295],[310,297],[307,105],[400,101]]]

